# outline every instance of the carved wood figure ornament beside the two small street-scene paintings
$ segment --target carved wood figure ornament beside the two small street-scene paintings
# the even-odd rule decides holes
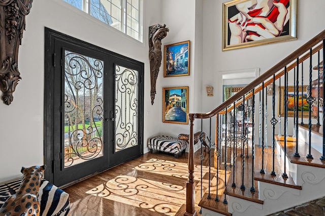
[[[149,27],[149,59],[150,59],[150,81],[151,81],[151,104],[156,94],[156,80],[161,65],[161,39],[167,36],[169,31],[166,25],[152,25]]]

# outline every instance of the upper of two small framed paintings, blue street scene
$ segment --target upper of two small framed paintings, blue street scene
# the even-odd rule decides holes
[[[189,40],[164,47],[164,77],[189,75]]]

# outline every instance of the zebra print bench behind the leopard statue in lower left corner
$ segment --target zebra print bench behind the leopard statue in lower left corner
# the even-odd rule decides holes
[[[21,183],[17,179],[0,185],[0,208],[5,201],[16,194]],[[47,180],[42,180],[38,200],[40,202],[40,215],[42,216],[67,216],[70,211],[69,194],[52,185]]]

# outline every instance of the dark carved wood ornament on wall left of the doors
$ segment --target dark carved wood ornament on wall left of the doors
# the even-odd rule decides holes
[[[0,0],[0,89],[7,105],[13,101],[13,92],[21,79],[18,49],[31,3],[32,0]]]

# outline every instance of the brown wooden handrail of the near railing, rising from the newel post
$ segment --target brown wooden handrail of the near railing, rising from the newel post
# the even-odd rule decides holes
[[[299,58],[301,55],[303,55],[309,49],[311,49],[312,47],[316,46],[323,39],[325,39],[325,30],[323,30],[322,32],[320,32],[319,34],[317,34],[311,40],[309,40],[308,42],[306,42],[306,44],[304,44],[299,49],[297,49],[296,51],[294,51],[293,53],[291,53],[290,55],[288,55],[286,58],[284,58],[282,61],[280,61],[275,66],[271,67],[269,70],[267,70],[261,76],[257,77],[251,83],[247,84],[246,87],[244,87],[242,90],[240,90],[238,93],[236,93],[236,95],[234,95],[231,98],[229,98],[228,100],[224,101],[221,105],[219,105],[214,110],[212,110],[212,111],[210,111],[208,113],[189,113],[188,116],[189,117],[192,117],[192,118],[210,118],[210,117],[212,117],[212,116],[220,113],[223,109],[225,109],[229,105],[233,104],[239,98],[243,97],[247,92],[251,91],[257,85],[261,84],[263,81],[265,81],[269,77],[273,76],[273,74],[276,74],[278,71],[280,71],[286,65],[288,65],[290,62],[293,62],[295,59]],[[308,56],[309,56],[309,54],[308,54]],[[292,68],[294,68],[294,67],[292,67]],[[289,70],[289,67],[287,69]],[[277,75],[277,78],[280,77],[283,74],[284,74],[284,70]],[[268,82],[265,82],[265,85],[270,84],[272,82],[270,80]],[[259,92],[259,91],[261,91],[261,90],[262,90],[262,87],[258,87],[256,89],[256,93]]]

